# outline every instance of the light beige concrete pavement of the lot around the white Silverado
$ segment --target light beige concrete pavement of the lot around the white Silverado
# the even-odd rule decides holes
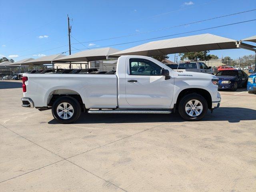
[[[199,122],[178,114],[82,114],[58,124],[0,81],[0,191],[255,191],[256,95],[220,92]]]

